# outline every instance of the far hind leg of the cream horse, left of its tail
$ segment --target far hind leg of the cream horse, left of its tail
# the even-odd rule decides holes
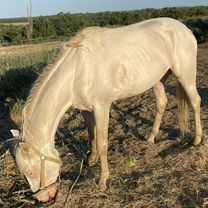
[[[166,97],[164,85],[162,82],[157,83],[153,87],[153,92],[154,92],[155,99],[156,99],[156,117],[155,117],[154,125],[152,128],[152,132],[149,138],[147,139],[149,143],[155,142],[155,137],[159,133],[162,116],[164,114],[165,107],[167,105],[167,97]]]

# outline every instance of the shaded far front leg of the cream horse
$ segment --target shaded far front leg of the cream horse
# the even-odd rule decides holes
[[[91,151],[88,162],[89,162],[89,166],[93,166],[98,160],[95,117],[94,117],[94,113],[89,111],[82,111],[82,116],[84,118],[90,137]]]

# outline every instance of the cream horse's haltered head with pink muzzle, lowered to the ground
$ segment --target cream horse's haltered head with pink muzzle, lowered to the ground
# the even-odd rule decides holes
[[[21,141],[17,131],[12,133],[14,137],[19,138],[15,152],[17,166],[27,179],[31,190],[36,192],[35,197],[43,202],[54,198],[61,166],[58,152],[54,149],[53,156],[47,156],[33,144]]]

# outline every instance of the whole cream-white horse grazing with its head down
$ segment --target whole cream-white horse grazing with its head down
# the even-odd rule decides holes
[[[91,139],[90,165],[100,158],[99,186],[106,188],[108,123],[111,103],[153,88],[156,118],[148,141],[159,131],[169,73],[178,80],[180,126],[187,123],[188,100],[195,115],[194,144],[201,142],[200,97],[196,89],[197,43],[191,31],[170,18],[120,28],[91,27],[65,44],[63,53],[32,88],[23,110],[21,142],[16,149],[20,171],[37,198],[56,193],[60,159],[54,147],[59,121],[70,106],[83,110]],[[187,98],[187,100],[186,100]]]

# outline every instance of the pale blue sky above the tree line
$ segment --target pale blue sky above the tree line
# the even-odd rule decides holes
[[[28,0],[0,0],[0,18],[27,16]],[[59,12],[124,11],[173,6],[208,6],[208,0],[32,0],[33,16]]]

